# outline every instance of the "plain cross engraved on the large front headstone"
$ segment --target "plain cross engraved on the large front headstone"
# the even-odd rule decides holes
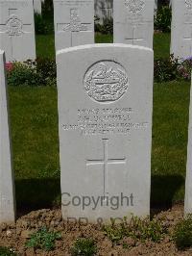
[[[104,185],[104,196],[107,194],[108,185],[108,165],[125,165],[126,158],[108,158],[108,139],[103,139],[104,156],[102,159],[88,159],[86,160],[86,166],[103,166],[103,185]]]

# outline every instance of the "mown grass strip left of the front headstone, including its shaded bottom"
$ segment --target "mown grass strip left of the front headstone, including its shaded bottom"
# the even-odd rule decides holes
[[[57,90],[10,87],[17,206],[43,207],[60,196]]]

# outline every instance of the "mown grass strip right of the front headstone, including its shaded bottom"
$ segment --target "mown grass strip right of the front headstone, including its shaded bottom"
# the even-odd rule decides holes
[[[152,203],[183,200],[189,109],[188,82],[154,86]]]

